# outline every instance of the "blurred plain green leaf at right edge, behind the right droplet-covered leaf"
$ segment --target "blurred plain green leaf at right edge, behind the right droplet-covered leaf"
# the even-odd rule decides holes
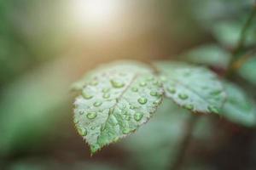
[[[256,106],[252,99],[234,83],[224,82],[228,98],[224,103],[223,116],[231,122],[251,127],[256,125]]]

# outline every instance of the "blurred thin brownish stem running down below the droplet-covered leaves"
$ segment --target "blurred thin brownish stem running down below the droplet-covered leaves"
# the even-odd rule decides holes
[[[185,133],[183,136],[182,143],[180,144],[180,150],[177,154],[177,159],[172,164],[172,167],[170,168],[171,170],[181,169],[181,167],[183,165],[183,161],[185,160],[186,151],[189,149],[189,143],[192,139],[192,133],[195,129],[197,120],[198,120],[198,117],[193,115],[193,113],[191,113],[191,116],[189,117],[189,120],[187,122],[187,126],[184,129]]]

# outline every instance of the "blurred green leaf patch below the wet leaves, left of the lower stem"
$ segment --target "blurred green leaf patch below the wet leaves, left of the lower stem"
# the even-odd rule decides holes
[[[136,166],[130,169],[166,169],[173,164],[189,118],[189,111],[164,99],[154,118],[120,143]]]

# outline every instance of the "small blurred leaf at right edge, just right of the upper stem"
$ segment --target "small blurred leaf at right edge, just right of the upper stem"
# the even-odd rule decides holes
[[[256,85],[256,71],[255,71],[255,65],[256,65],[256,56],[252,57],[251,59],[248,59],[246,63],[244,63],[240,70],[238,71],[241,77],[246,79],[248,82],[253,83]]]

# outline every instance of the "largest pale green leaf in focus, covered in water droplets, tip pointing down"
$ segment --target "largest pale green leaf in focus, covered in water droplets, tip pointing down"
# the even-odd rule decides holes
[[[148,122],[163,91],[153,71],[137,63],[115,63],[90,74],[74,103],[74,122],[95,153]]]

